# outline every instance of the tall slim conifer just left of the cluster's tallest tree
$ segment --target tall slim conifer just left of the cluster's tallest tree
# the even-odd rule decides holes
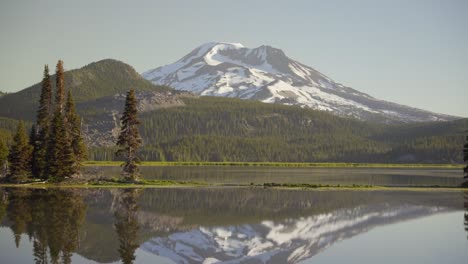
[[[49,67],[44,66],[44,77],[42,79],[42,90],[37,111],[36,140],[33,142],[33,176],[46,178],[44,171],[47,166],[47,142],[50,134],[50,123],[52,116],[52,85],[49,75]]]

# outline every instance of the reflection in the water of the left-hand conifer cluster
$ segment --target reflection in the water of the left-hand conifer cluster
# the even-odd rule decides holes
[[[21,235],[33,242],[36,263],[71,263],[86,206],[69,190],[9,189],[6,216],[11,221],[16,247]],[[1,210],[0,210],[1,211]]]

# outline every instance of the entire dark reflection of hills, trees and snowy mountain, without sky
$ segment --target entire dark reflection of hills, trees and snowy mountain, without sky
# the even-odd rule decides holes
[[[377,226],[462,210],[462,201],[468,208],[460,192],[8,188],[0,221],[18,250],[29,237],[33,250],[21,253],[35,263],[133,263],[139,252],[176,263],[297,263]],[[468,209],[463,221],[468,231]]]

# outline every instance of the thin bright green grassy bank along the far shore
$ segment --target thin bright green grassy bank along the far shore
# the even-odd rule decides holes
[[[87,161],[85,166],[120,166],[120,161]],[[461,169],[463,164],[387,164],[345,162],[164,162],[144,161],[142,166],[239,166],[239,167],[296,167],[296,168],[447,168]]]

